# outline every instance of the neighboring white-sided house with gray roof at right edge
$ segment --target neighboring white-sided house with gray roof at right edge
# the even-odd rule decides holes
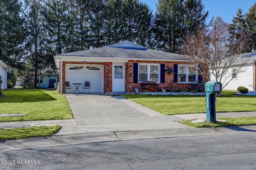
[[[242,62],[244,63],[245,61],[246,61],[246,64],[244,64],[240,69],[240,71],[237,72],[237,69],[239,68],[239,64]],[[221,73],[222,69],[220,69],[219,71]],[[213,75],[210,75],[210,80],[215,81],[215,78]],[[250,53],[244,53],[240,55],[237,62],[229,68],[228,72],[224,76],[222,76],[221,83],[223,84],[223,86],[227,82],[229,83],[227,86],[223,88],[224,90],[237,90],[239,86],[246,87],[248,88],[249,91],[255,90],[256,51],[252,51]]]

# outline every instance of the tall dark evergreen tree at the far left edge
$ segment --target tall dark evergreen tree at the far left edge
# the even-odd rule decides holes
[[[21,5],[18,0],[0,2],[0,59],[20,69],[26,38]]]

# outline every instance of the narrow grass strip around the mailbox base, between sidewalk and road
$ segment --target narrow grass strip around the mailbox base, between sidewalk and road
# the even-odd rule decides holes
[[[225,126],[243,126],[243,125],[256,125],[256,117],[220,117],[218,119],[227,120],[228,122],[216,123],[192,123],[191,120],[182,120],[181,124],[189,125],[192,127],[225,127]]]

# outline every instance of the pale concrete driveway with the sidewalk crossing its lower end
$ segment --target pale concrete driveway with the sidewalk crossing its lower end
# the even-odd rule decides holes
[[[60,125],[57,135],[76,135],[89,133],[152,131],[166,129],[190,129],[178,123],[183,119],[206,119],[205,113],[162,115],[121,96],[74,95],[66,98],[74,119],[1,122],[0,128]],[[216,117],[251,117],[254,112],[216,113]]]

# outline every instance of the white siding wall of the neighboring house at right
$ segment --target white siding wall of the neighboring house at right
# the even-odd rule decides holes
[[[236,66],[231,67],[228,72],[222,77],[221,83],[224,86],[231,78],[232,78],[232,68],[236,68]],[[211,80],[214,78],[211,75]],[[225,80],[226,78],[226,80]],[[225,80],[225,81],[224,81]],[[213,80],[215,81],[215,80]],[[249,64],[246,64],[241,68],[241,70],[237,73],[237,78],[232,79],[224,90],[237,90],[239,86],[243,86],[248,88],[249,91],[252,91],[253,88],[251,87],[253,84],[253,67]],[[250,86],[251,85],[251,86]]]

